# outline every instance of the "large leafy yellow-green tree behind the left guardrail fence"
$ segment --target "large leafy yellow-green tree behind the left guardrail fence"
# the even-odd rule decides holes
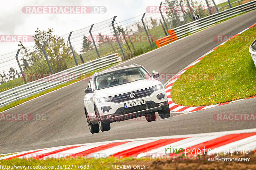
[[[45,52],[53,72],[59,72],[68,69],[66,63],[68,60],[71,60],[71,51],[68,42],[65,42],[63,37],[53,35],[53,32],[53,28],[48,28],[47,31],[41,31],[39,28],[37,28],[35,35],[33,36],[35,46],[32,50],[28,50],[20,42],[19,47],[21,47],[21,55],[23,55],[22,67],[26,74],[50,73],[42,50],[44,41],[46,40],[47,43],[45,46]]]

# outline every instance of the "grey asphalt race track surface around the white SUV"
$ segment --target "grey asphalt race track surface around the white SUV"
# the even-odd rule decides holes
[[[192,34],[118,66],[137,63],[149,72],[175,74],[221,42],[215,35],[234,35],[256,22],[256,10]],[[249,51],[248,51],[249,52]],[[165,83],[167,80],[162,80]],[[44,114],[39,121],[1,121],[0,153],[11,153],[68,144],[83,144],[119,139],[157,137],[256,128],[255,121],[215,121],[216,113],[255,113],[256,98],[242,100],[186,115],[147,122],[128,120],[111,123],[111,130],[91,134],[84,115],[84,89],[80,81],[12,108],[5,114]],[[179,115],[179,116],[176,116]],[[173,117],[174,116],[174,117]],[[158,118],[159,119],[159,118]]]

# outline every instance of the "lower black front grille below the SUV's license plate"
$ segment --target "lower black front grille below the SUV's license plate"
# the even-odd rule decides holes
[[[114,116],[134,113],[134,112],[138,112],[138,111],[142,111],[142,110],[146,110],[154,107],[158,107],[158,104],[156,104],[154,101],[147,101],[146,104],[128,107],[128,108],[120,107],[116,110]]]

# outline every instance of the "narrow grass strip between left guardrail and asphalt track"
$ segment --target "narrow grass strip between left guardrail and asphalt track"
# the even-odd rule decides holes
[[[4,107],[1,107],[1,108],[0,108],[0,113],[3,112],[4,110],[7,110],[7,109],[12,108],[12,107],[15,107],[15,106],[17,106],[17,105],[20,105],[21,103],[24,103],[24,102],[26,102],[26,101],[28,101],[28,100],[34,99],[34,98],[39,97],[39,96],[42,96],[42,95],[44,95],[44,94],[46,94],[46,93],[48,93],[48,92],[52,92],[52,91],[54,91],[54,90],[57,90],[57,89],[60,89],[60,88],[62,88],[62,87],[65,87],[65,86],[67,86],[67,85],[70,85],[70,84],[72,84],[72,83],[75,83],[75,82],[77,82],[77,81],[79,81],[79,80],[82,80],[82,79],[84,79],[84,78],[87,78],[87,77],[89,77],[89,76],[92,76],[92,74],[93,74],[94,72],[98,72],[98,71],[105,70],[105,69],[107,69],[107,68],[109,68],[109,67],[111,67],[111,66],[113,66],[113,65],[114,65],[114,64],[111,64],[111,65],[109,65],[108,67],[105,67],[104,69],[100,69],[100,70],[95,70],[95,71],[89,72],[89,73],[87,73],[87,74],[82,75],[80,78],[77,78],[77,79],[72,80],[72,81],[68,81],[67,83],[58,85],[58,86],[56,86],[56,87],[54,87],[54,88],[47,89],[47,90],[45,90],[44,92],[40,92],[40,93],[38,93],[38,94],[34,94],[33,96],[30,96],[30,97],[28,97],[28,98],[14,101],[14,102],[10,103],[9,105],[6,105],[6,106],[4,106]]]

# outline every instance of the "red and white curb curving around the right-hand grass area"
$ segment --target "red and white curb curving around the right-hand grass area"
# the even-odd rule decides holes
[[[241,31],[240,33],[234,35],[233,37],[231,37],[228,40],[231,40],[233,38],[235,38],[237,35],[243,33],[244,31],[252,28],[256,26],[256,23],[253,24],[252,26],[249,26],[248,28],[246,28],[245,30]],[[228,41],[227,40],[227,41]],[[189,68],[193,67],[196,63],[200,62],[206,55],[212,53],[214,50],[216,50],[217,48],[219,48],[221,45],[225,44],[227,41],[224,41],[223,43],[221,43],[220,45],[218,45],[217,47],[213,48],[211,51],[207,52],[206,54],[204,54],[203,56],[201,56],[200,58],[198,58],[196,61],[194,61],[193,63],[189,64],[186,68],[184,68],[183,70],[181,70],[179,73],[177,73],[176,75],[174,75],[169,82],[165,85],[165,92],[167,95],[167,99],[168,99],[168,104],[170,107],[170,111],[172,112],[195,112],[195,111],[199,111],[199,110],[204,110],[204,109],[208,109],[208,108],[212,108],[212,107],[216,107],[216,106],[221,106],[221,105],[225,105],[228,103],[233,103],[236,101],[240,101],[240,100],[245,100],[245,99],[250,99],[256,96],[252,96],[252,97],[248,97],[245,99],[240,99],[240,100],[234,100],[234,101],[230,101],[230,102],[226,102],[226,103],[220,103],[220,104],[216,104],[216,105],[209,105],[209,106],[198,106],[198,107],[190,107],[190,106],[181,106],[179,104],[176,104],[172,101],[171,98],[171,89],[173,84],[177,81],[177,79],[183,74],[185,73]]]

